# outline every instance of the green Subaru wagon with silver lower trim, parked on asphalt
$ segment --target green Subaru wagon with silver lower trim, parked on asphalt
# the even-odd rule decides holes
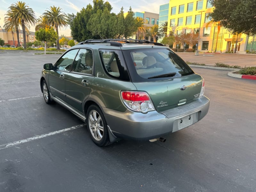
[[[165,141],[164,135],[201,120],[210,101],[204,79],[160,43],[132,39],[86,40],[40,80],[47,104],[57,102],[87,124],[93,142]]]

